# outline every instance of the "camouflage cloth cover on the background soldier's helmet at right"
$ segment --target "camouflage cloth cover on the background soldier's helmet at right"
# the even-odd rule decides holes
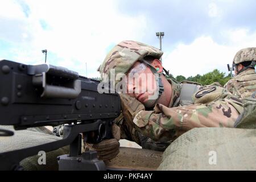
[[[256,61],[256,47],[241,49],[234,56],[233,64],[239,64],[245,61]]]

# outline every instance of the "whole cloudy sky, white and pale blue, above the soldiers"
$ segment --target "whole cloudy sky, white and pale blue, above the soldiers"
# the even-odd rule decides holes
[[[0,60],[96,71],[122,40],[159,47],[172,75],[228,73],[237,51],[256,47],[255,0],[0,0]],[[86,73],[87,65],[87,73]]]

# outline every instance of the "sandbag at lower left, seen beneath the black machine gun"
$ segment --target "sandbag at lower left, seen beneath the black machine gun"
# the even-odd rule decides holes
[[[26,147],[37,146],[39,144],[54,142],[61,139],[52,135],[51,131],[45,127],[35,127],[27,130],[14,130],[13,126],[0,126],[1,129],[14,131],[12,137],[0,137],[0,153],[18,150]],[[46,165],[38,164],[40,155],[30,156],[23,159],[20,165],[24,170],[57,170],[57,156],[68,154],[69,146],[59,148],[55,151],[46,152]]]

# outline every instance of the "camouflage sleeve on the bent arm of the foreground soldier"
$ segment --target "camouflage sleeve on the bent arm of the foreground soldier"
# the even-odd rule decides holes
[[[154,111],[140,111],[133,122],[143,135],[167,142],[195,127],[234,127],[239,115],[229,100],[171,108],[157,104]]]

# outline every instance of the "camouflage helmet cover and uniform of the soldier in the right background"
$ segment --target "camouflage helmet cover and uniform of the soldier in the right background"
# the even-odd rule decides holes
[[[243,63],[245,61],[256,61],[256,48],[245,48],[237,52],[233,64]],[[224,87],[235,96],[241,99],[251,97],[256,91],[256,73],[255,69],[249,68],[239,73],[229,80]]]

